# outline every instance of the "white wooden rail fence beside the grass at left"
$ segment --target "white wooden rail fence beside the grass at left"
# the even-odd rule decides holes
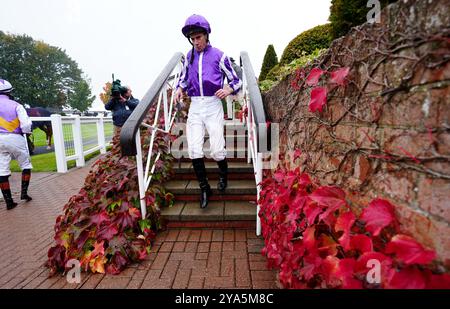
[[[76,166],[85,165],[85,156],[100,150],[106,152],[106,146],[112,139],[105,137],[105,123],[112,123],[111,117],[80,117],[53,114],[50,117],[30,117],[31,121],[51,121],[53,144],[55,148],[58,173],[66,173],[67,162],[75,160]],[[82,125],[96,124],[96,138],[83,143]],[[92,147],[91,147],[92,146]]]

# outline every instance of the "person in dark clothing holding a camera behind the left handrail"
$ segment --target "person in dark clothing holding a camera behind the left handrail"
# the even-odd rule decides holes
[[[125,121],[139,104],[139,100],[131,95],[129,86],[121,86],[120,80],[113,82],[111,99],[105,105],[105,109],[112,111],[114,123],[114,135],[119,134]]]

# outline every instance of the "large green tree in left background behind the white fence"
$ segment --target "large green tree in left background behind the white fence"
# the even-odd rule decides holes
[[[83,80],[64,50],[27,35],[0,31],[0,76],[13,85],[15,98],[30,106],[61,109]]]

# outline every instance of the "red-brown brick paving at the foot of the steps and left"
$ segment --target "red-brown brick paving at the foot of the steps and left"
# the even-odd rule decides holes
[[[254,230],[170,229],[160,233],[148,258],[120,275],[82,274],[80,284],[43,266],[53,245],[56,217],[77,193],[89,166],[67,174],[34,173],[33,201],[6,211],[0,202],[0,288],[276,288],[275,272],[260,254]],[[18,200],[20,174],[11,177]]]

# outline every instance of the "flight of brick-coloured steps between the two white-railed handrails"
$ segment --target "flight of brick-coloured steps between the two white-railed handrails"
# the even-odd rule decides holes
[[[227,142],[228,187],[217,190],[219,169],[209,158],[209,138],[204,144],[205,166],[213,195],[206,209],[199,207],[200,188],[187,152],[174,163],[175,177],[165,188],[175,195],[175,204],[162,209],[162,219],[169,227],[255,228],[256,184],[253,165],[247,163],[247,131],[238,120],[225,121]]]

